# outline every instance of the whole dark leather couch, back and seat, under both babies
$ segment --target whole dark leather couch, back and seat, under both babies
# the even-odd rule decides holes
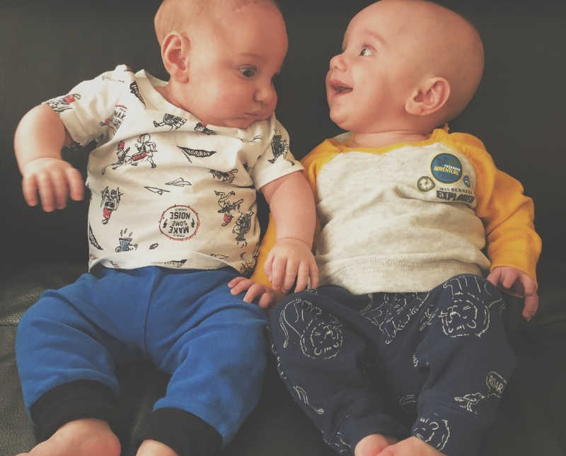
[[[370,1],[282,0],[289,56],[277,82],[278,117],[291,147],[304,156],[337,134],[328,119],[323,78],[338,52],[351,16]],[[510,300],[510,337],[519,368],[485,440],[483,455],[566,455],[566,4],[526,0],[446,0],[483,35],[486,71],[475,100],[452,131],[482,139],[495,162],[524,183],[535,200],[543,238],[539,264],[541,310],[521,321],[521,303]],[[21,116],[75,83],[116,64],[145,68],[165,78],[152,16],[158,1],[3,0],[0,6],[0,141],[2,261],[0,264],[0,456],[35,444],[13,353],[22,312],[46,288],[74,281],[86,269],[86,203],[45,214],[25,206],[13,158],[13,131]],[[86,153],[68,154],[84,173]],[[562,221],[562,222],[561,222]],[[323,456],[333,452],[301,414],[277,378],[275,365],[261,402],[223,455]],[[124,455],[167,376],[146,363],[122,366],[120,428]]]

